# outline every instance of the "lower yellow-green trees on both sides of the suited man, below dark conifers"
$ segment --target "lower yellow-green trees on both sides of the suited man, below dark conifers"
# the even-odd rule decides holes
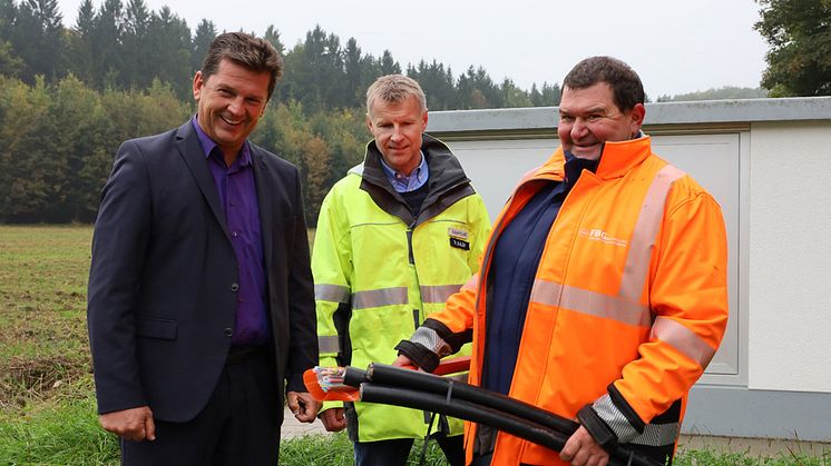
[[[74,76],[53,85],[0,77],[0,222],[92,221],[120,141],[175,128],[193,111],[159,80],[100,92]],[[310,225],[368,139],[362,110],[309,113],[296,101],[270,106],[252,135],[301,169]]]

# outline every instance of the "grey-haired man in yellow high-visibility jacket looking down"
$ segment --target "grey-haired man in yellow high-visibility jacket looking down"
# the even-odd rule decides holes
[[[441,141],[423,133],[418,82],[391,75],[366,92],[374,139],[321,206],[312,254],[321,366],[395,359],[409,337],[478,270],[490,230],[481,197]],[[468,353],[469,354],[469,353]],[[462,424],[375,404],[324,404],[327,430],[349,427],[355,464],[403,465],[428,426],[451,465],[465,460]],[[344,416],[345,414],[345,416]]]

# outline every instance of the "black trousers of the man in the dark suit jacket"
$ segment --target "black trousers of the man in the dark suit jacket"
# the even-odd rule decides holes
[[[229,358],[205,408],[187,423],[156,420],[156,440],[121,440],[125,466],[277,464],[283,407],[268,350]]]

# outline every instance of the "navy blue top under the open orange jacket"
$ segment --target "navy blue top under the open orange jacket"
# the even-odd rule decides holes
[[[546,184],[499,236],[493,249],[488,286],[487,337],[482,387],[507,395],[514,379],[528,301],[548,232],[563,201],[583,169],[598,162],[566,153],[566,180]]]

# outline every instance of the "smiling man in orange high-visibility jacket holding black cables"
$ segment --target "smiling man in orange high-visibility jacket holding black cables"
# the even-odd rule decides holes
[[[473,465],[672,460],[690,388],[727,321],[721,208],[652,152],[638,76],[593,57],[564,80],[560,147],[517,186],[480,278],[398,346],[428,370],[472,329],[469,381],[580,423],[558,455],[466,426]]]

